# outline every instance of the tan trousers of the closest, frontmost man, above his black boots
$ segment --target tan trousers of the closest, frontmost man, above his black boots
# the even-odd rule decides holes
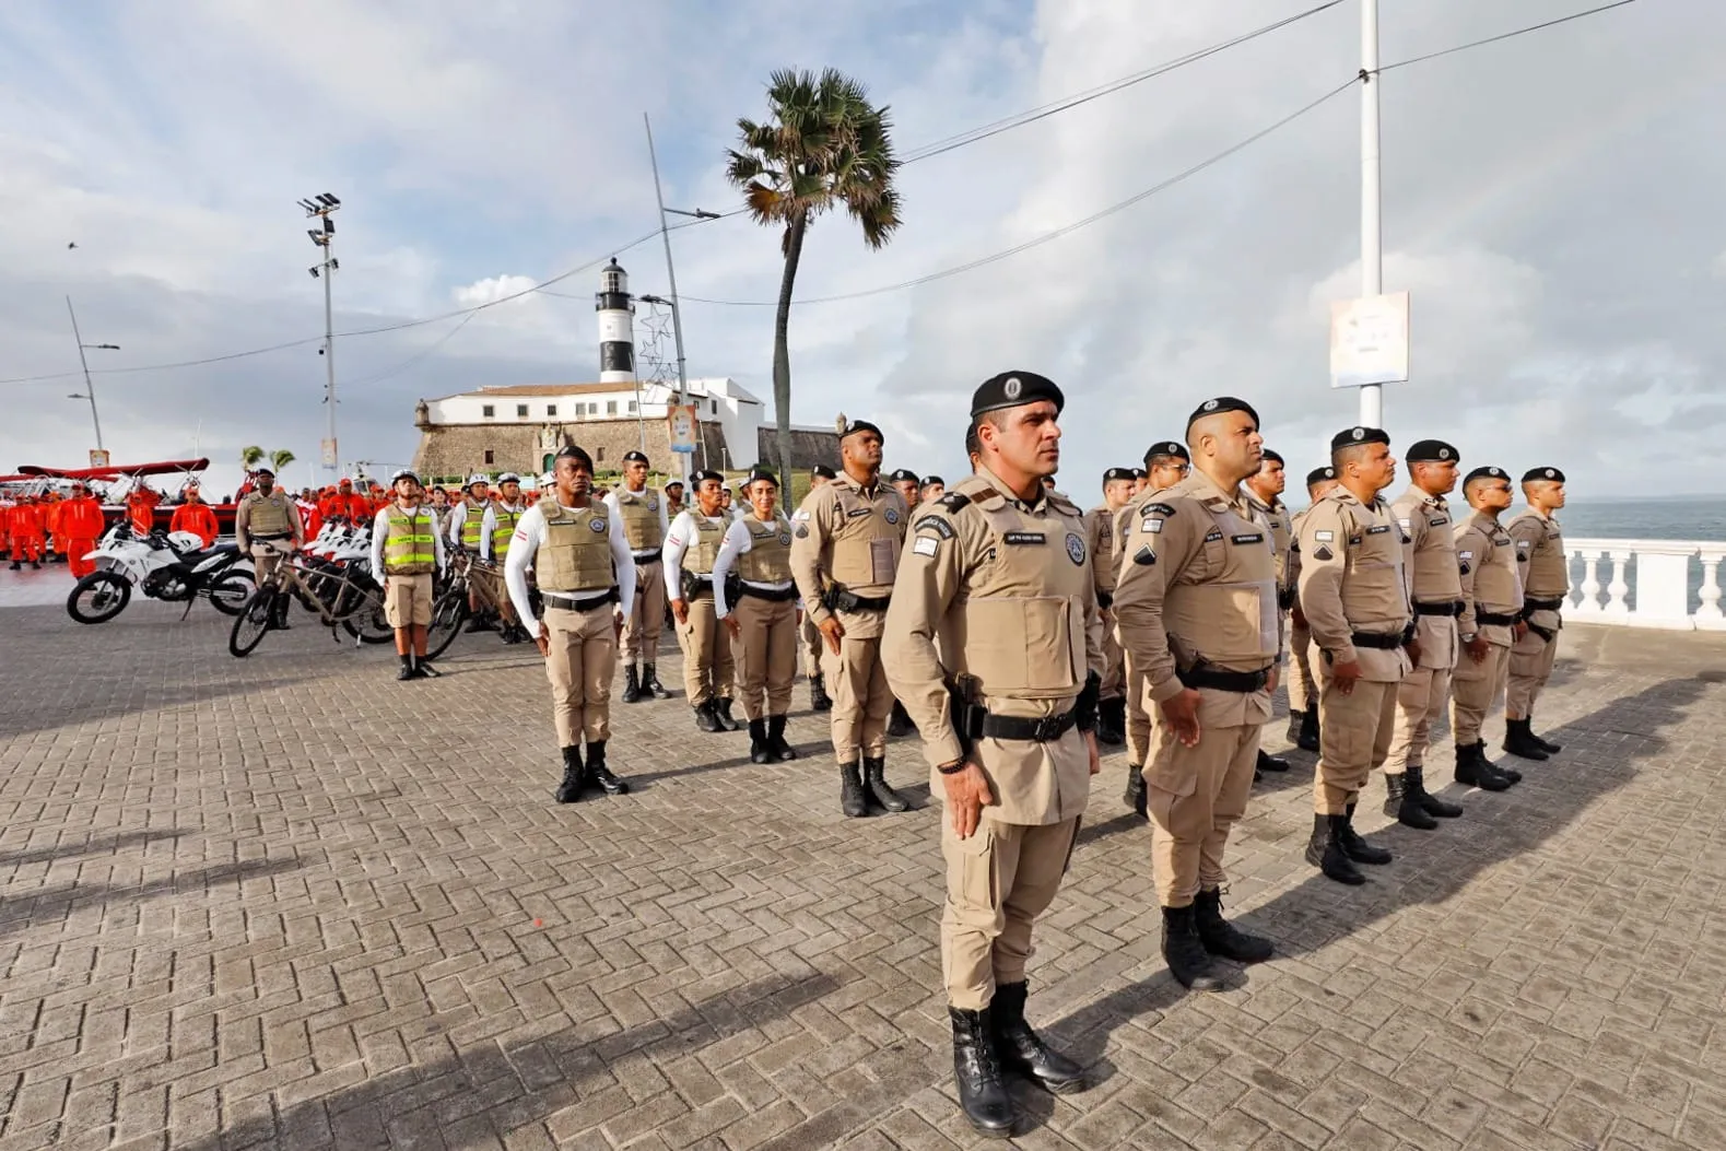
[[[1024,827],[984,813],[970,839],[941,816],[948,901],[941,913],[941,973],[948,1003],[980,1011],[998,984],[1022,984],[1030,927],[1055,901],[1079,839],[1079,816]]]

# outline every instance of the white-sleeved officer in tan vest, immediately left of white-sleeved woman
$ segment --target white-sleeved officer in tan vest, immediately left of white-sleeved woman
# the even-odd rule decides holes
[[[721,633],[713,604],[713,561],[720,557],[725,531],[732,526],[720,499],[725,476],[697,471],[692,481],[696,506],[671,521],[659,563],[677,620],[677,642],[683,649],[683,692],[696,709],[696,726],[702,732],[735,732],[732,645]]]

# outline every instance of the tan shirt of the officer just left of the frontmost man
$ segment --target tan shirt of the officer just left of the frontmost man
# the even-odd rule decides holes
[[[904,497],[879,478],[865,488],[841,473],[803,499],[792,516],[791,573],[809,620],[837,614],[846,635],[880,637],[884,613],[832,613],[822,595],[830,585],[865,599],[891,595],[908,519]]]

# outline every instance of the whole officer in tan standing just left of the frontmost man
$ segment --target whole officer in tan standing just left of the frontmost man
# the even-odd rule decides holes
[[[870,801],[885,811],[908,806],[885,778],[894,697],[880,664],[880,628],[910,509],[880,481],[880,428],[841,416],[842,471],[811,490],[792,516],[791,569],[803,609],[822,632],[822,671],[834,692],[839,808],[851,818],[868,815]]]

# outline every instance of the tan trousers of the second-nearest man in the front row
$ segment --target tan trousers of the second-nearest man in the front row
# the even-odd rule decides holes
[[[1227,882],[1222,852],[1253,794],[1260,730],[1258,723],[1201,726],[1198,747],[1187,747],[1169,723],[1153,728],[1144,783],[1151,875],[1162,906],[1186,908],[1200,889]]]

